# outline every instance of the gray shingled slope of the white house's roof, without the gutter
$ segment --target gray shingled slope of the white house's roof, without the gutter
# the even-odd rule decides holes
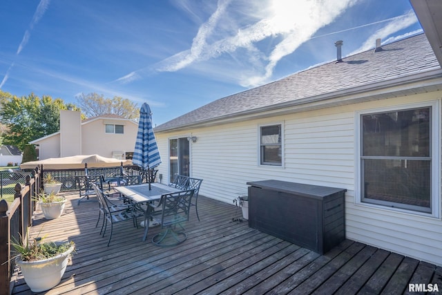
[[[263,111],[271,106],[296,102],[309,97],[326,97],[336,91],[367,86],[407,77],[426,70],[440,68],[424,34],[382,46],[382,50],[367,50],[343,62],[302,70],[276,82],[241,93],[229,95],[161,124],[155,131],[168,131],[222,120],[225,117]]]

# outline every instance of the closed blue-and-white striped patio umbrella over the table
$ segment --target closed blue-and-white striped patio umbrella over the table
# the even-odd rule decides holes
[[[148,173],[148,184],[151,189],[149,169],[161,164],[160,151],[153,133],[151,108],[144,103],[140,108],[140,122],[138,122],[137,140],[133,151],[132,163],[140,166]]]

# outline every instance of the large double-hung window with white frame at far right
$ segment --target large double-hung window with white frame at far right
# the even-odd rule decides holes
[[[439,215],[439,104],[358,113],[360,201]]]

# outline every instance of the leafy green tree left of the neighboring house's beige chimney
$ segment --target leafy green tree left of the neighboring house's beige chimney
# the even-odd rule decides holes
[[[34,93],[1,102],[1,123],[8,127],[3,144],[15,145],[23,151],[32,140],[59,131],[59,110],[67,108],[62,99],[50,96],[40,99]]]

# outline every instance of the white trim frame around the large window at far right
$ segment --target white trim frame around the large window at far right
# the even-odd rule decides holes
[[[431,136],[432,136],[432,144],[431,144],[431,158],[432,158],[432,180],[431,180],[431,213],[413,211],[409,209],[401,209],[394,207],[387,207],[380,204],[371,204],[367,202],[362,202],[362,189],[361,189],[361,115],[365,115],[367,113],[381,113],[388,111],[401,111],[407,108],[422,108],[430,106],[432,109],[432,124],[431,124]],[[439,134],[441,133],[441,125],[440,125],[440,113],[441,109],[439,108],[439,100],[434,100],[430,102],[421,102],[418,104],[403,104],[399,106],[390,106],[385,108],[371,108],[367,110],[355,111],[354,113],[354,131],[355,131],[355,204],[361,205],[364,207],[372,207],[378,209],[387,209],[389,211],[397,211],[403,213],[411,213],[413,215],[420,216],[430,216],[434,218],[440,218],[441,216],[441,195],[440,195],[440,171],[441,164],[439,162],[439,155],[441,154],[441,149],[439,147]]]

